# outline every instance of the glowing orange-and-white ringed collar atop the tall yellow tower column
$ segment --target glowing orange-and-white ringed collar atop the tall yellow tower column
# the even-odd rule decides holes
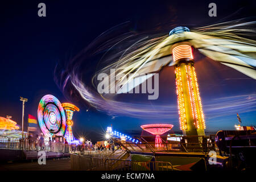
[[[174,49],[172,49],[172,55],[174,57],[174,61],[183,58],[193,59],[191,46],[188,45],[174,47]]]

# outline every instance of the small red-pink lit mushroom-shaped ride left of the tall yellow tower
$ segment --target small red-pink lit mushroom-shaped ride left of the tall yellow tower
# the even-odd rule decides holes
[[[171,130],[174,125],[170,124],[151,124],[151,125],[142,125],[141,128],[148,133],[156,135],[155,137],[155,147],[163,147],[162,139],[160,135],[166,133]]]

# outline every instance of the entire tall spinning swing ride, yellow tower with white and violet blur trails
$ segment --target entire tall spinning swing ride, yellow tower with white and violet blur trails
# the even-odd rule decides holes
[[[244,38],[247,34],[255,33],[252,26],[255,26],[255,22],[234,20],[192,30],[187,27],[176,27],[170,31],[169,35],[163,36],[159,34],[144,37],[143,35],[130,35],[117,39],[118,42],[111,39],[108,42],[109,47],[104,44],[105,47],[98,48],[101,51],[93,51],[102,52],[107,47],[106,53],[100,60],[103,68],[100,67],[92,78],[93,86],[98,88],[100,84],[97,80],[98,76],[106,73],[111,80],[114,80],[108,85],[108,93],[113,93],[112,85],[118,86],[115,89],[119,88],[117,92],[114,92],[116,94],[129,93],[136,86],[156,76],[156,73],[163,67],[174,66],[180,130],[183,131],[184,136],[205,135],[203,105],[192,48],[218,63],[256,79],[256,43],[253,39]],[[100,38],[97,41],[99,42]],[[117,48],[119,46],[123,49]],[[75,59],[72,62],[73,65],[68,65],[67,77],[61,77],[63,80],[61,85],[64,86],[67,80],[71,81],[73,88],[80,93],[81,98],[101,111],[127,114],[131,117],[157,116],[162,118],[166,116],[164,115],[168,113],[166,107],[161,105],[154,106],[158,108],[155,109],[156,113],[146,104],[118,101],[118,97],[114,97],[113,94],[110,96],[98,90],[93,92],[81,80],[80,74],[82,73],[79,71],[79,65],[84,63],[84,59],[86,58],[79,57],[77,61]]]

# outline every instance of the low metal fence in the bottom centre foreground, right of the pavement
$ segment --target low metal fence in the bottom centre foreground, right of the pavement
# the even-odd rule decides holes
[[[86,171],[172,171],[170,162],[104,159],[71,154],[71,169]]]

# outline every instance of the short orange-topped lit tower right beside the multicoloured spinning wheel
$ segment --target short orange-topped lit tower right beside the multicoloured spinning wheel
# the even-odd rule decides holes
[[[61,106],[66,111],[66,116],[67,116],[67,122],[66,122],[67,128],[65,132],[65,139],[68,141],[68,143],[79,143],[79,140],[76,140],[72,133],[72,125],[73,125],[72,117],[73,117],[74,111],[79,111],[80,109],[79,107],[69,103],[63,103],[61,104]]]

